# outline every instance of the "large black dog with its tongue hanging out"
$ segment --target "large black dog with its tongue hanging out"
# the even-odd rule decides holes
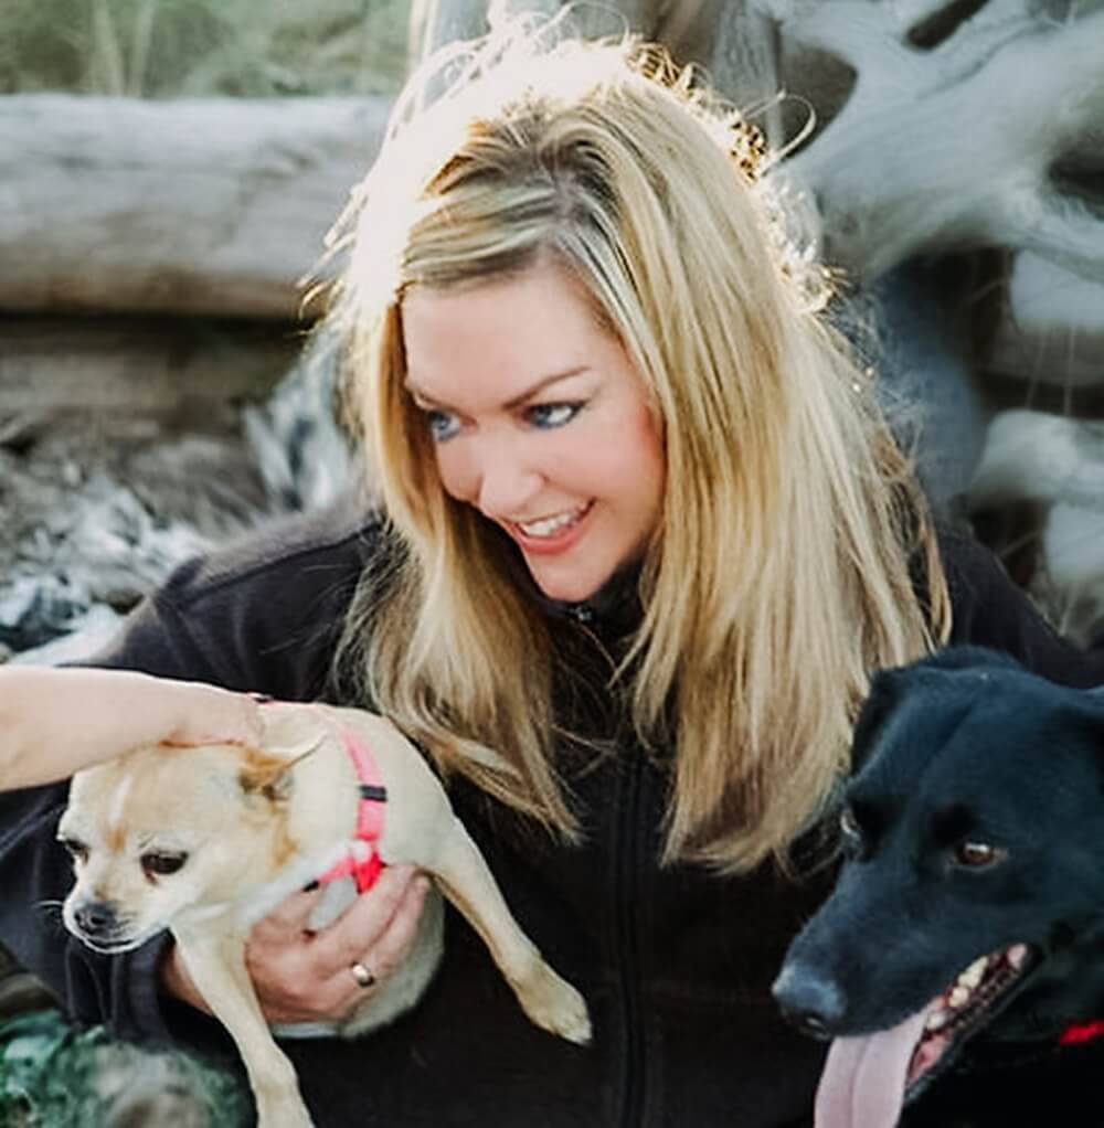
[[[993,1074],[1104,1015],[1104,694],[948,650],[876,676],[853,756],[838,884],[774,985],[788,1017],[835,1039],[817,1128],[892,1128],[936,1078],[985,1068],[1004,1112],[923,1122],[1104,1123],[1099,1057],[1094,1109],[1069,1118],[1055,1105],[1084,1095],[1052,1090],[1035,1119],[1010,1083],[1024,1070]]]

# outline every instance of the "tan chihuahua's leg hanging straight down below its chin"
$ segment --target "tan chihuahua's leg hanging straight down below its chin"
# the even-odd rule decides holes
[[[273,1041],[257,1003],[242,937],[173,932],[189,975],[242,1055],[257,1128],[313,1128],[295,1068]]]

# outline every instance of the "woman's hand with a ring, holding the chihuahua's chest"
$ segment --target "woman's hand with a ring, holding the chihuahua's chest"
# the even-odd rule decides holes
[[[269,1022],[343,1019],[401,967],[418,932],[429,879],[413,866],[387,866],[333,924],[308,928],[321,890],[293,893],[249,933],[245,962]],[[375,982],[362,987],[359,963]],[[164,986],[210,1013],[175,948],[163,967]]]

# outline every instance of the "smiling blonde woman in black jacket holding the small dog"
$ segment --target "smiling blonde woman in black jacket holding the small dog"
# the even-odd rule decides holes
[[[450,919],[412,1013],[288,1043],[319,1125],[807,1122],[823,1050],[769,987],[869,671],[950,640],[1097,680],[937,540],[760,164],[639,44],[475,51],[350,217],[333,317],[377,504],[185,565],[102,656],[394,717],[588,999],[589,1048],[546,1037]],[[29,909],[68,885],[62,802],[6,801],[0,935],[76,1017],[218,1045],[164,943],[107,961]],[[273,1021],[378,989],[421,879],[317,934],[315,896],[251,938]]]

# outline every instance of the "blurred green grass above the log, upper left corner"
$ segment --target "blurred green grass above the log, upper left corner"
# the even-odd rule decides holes
[[[3,0],[0,94],[367,94],[405,72],[410,0]]]

